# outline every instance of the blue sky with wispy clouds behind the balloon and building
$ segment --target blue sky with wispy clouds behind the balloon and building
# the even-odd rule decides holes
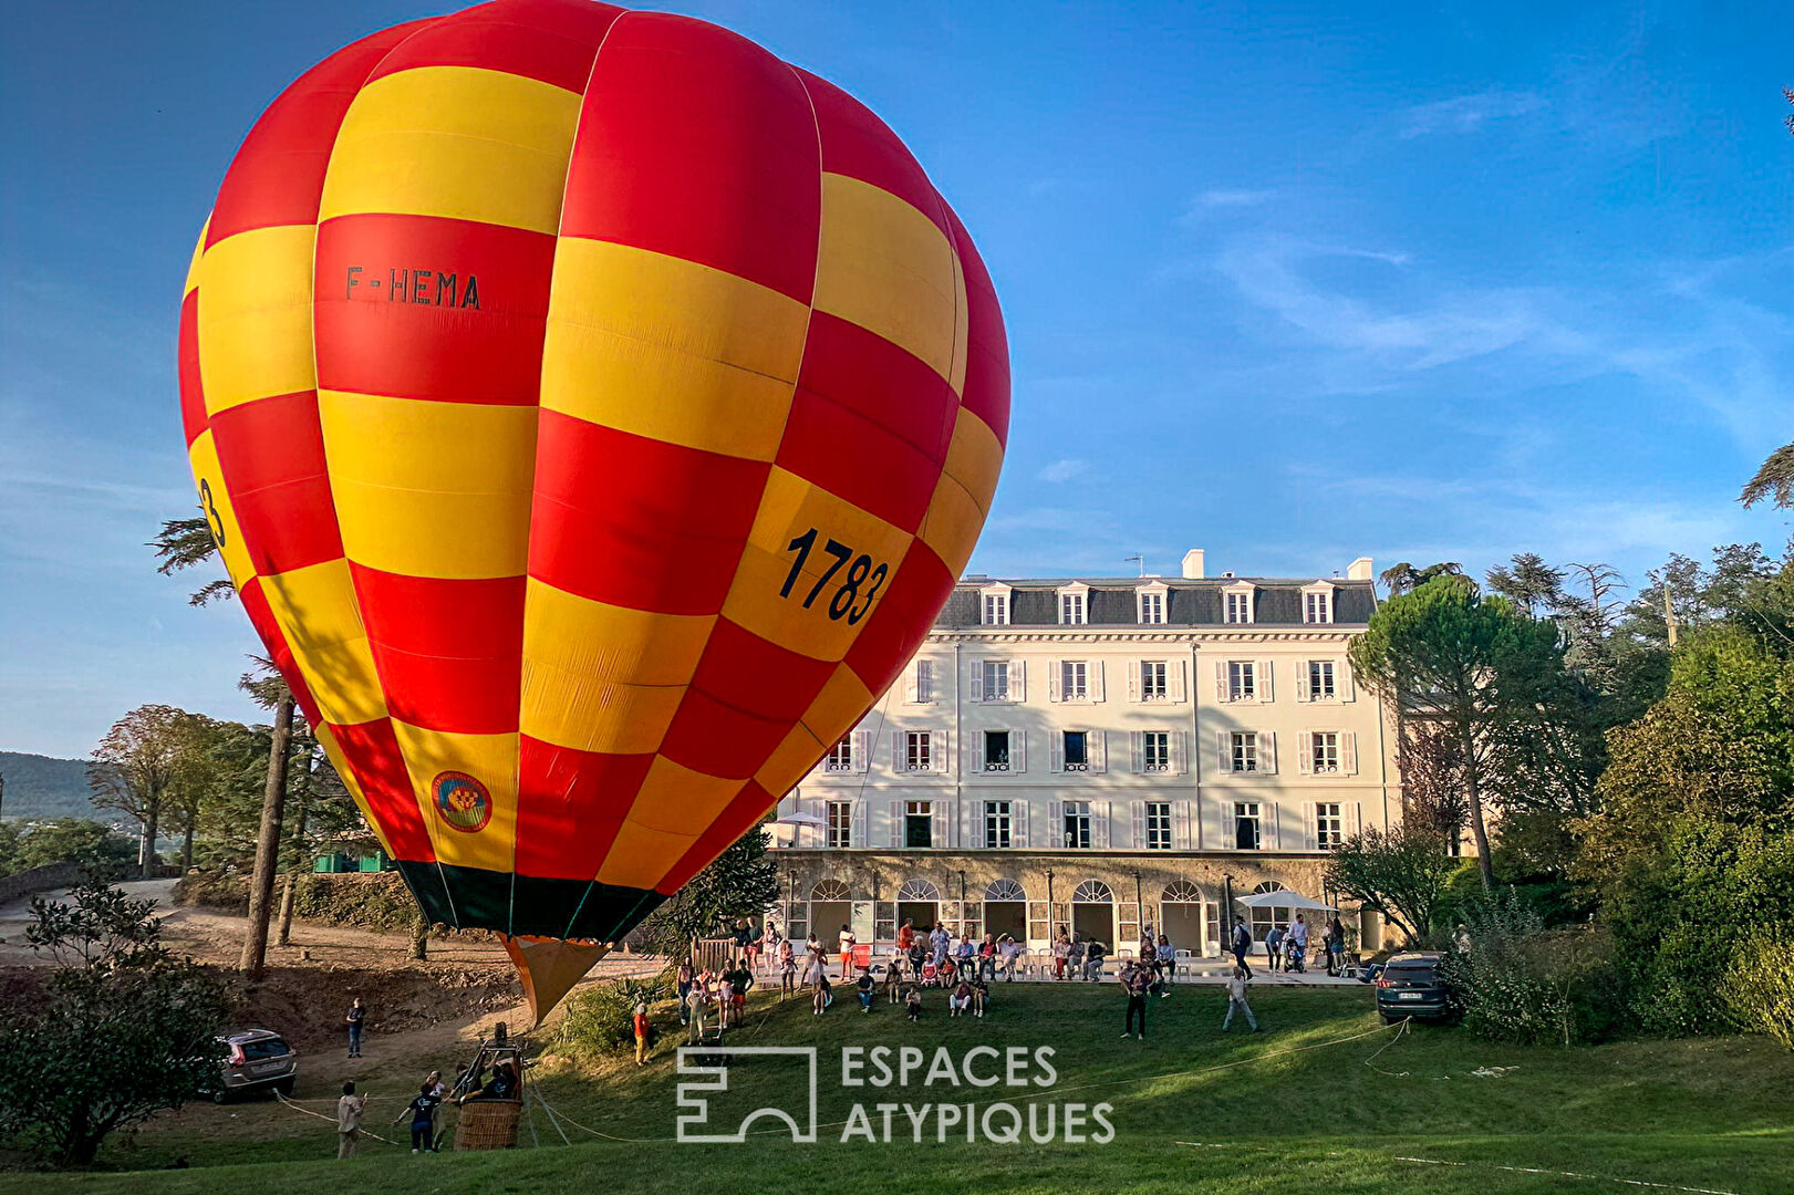
[[[1475,572],[1764,540],[1794,438],[1794,27],[1769,4],[689,4],[960,210],[1015,416],[974,571]],[[181,278],[262,106],[431,4],[0,18],[0,746],[251,716],[142,544],[192,504]]]

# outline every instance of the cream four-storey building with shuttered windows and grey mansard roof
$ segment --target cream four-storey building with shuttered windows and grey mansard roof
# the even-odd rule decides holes
[[[1224,885],[1322,897],[1326,850],[1399,820],[1394,728],[1346,648],[1346,576],[963,578],[902,678],[773,825],[791,937],[935,920],[1220,951]],[[1256,926],[1268,929],[1270,913]],[[1281,915],[1277,915],[1281,920]],[[1367,946],[1374,915],[1356,924]]]

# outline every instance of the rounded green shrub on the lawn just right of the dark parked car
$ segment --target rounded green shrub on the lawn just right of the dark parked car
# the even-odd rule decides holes
[[[1446,978],[1480,1037],[1521,1046],[1604,1037],[1620,998],[1606,935],[1545,929],[1520,894],[1496,892],[1464,910],[1467,942],[1446,951]]]

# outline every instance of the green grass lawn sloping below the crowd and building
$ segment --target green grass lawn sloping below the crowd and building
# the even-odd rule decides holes
[[[753,1195],[843,1182],[919,1195],[1640,1190],[1616,1179],[1740,1195],[1794,1191],[1794,1055],[1764,1039],[1514,1050],[1460,1030],[1414,1028],[1394,1041],[1396,1030],[1383,1030],[1371,1012],[1369,992],[1338,989],[1261,989],[1254,1005],[1267,1032],[1222,1035],[1220,989],[1189,987],[1152,1001],[1150,1037],[1141,1044],[1118,1037],[1121,1001],[1112,985],[1017,985],[997,996],[999,1005],[983,1021],[949,1021],[936,996],[920,1025],[888,1008],[861,1016],[849,999],[823,1017],[811,1016],[806,1003],[757,1003],[732,1044],[820,1046],[823,1123],[845,1120],[856,1100],[868,1107],[879,1100],[983,1105],[1032,1095],[1028,1102],[1112,1103],[1112,1143],[1033,1145],[1024,1136],[1019,1145],[969,1145],[958,1127],[942,1145],[931,1123],[917,1145],[899,1114],[895,1143],[843,1145],[840,1129],[825,1129],[816,1145],[795,1147],[786,1136],[682,1145],[671,1141],[676,1077],[671,1042],[664,1042],[662,1057],[644,1071],[617,1064],[579,1075],[558,1066],[542,1068],[538,1077],[558,1111],[590,1129],[631,1138],[628,1143],[569,1130],[574,1145],[565,1147],[536,1112],[538,1148],[413,1157],[409,1150],[368,1143],[348,1179],[334,1161],[330,1125],[257,1102],[188,1109],[102,1156],[109,1166],[142,1172],[5,1175],[0,1191],[318,1195],[416,1188],[445,1195],[596,1195],[594,1181],[603,1182],[601,1195],[684,1190],[691,1182]],[[1057,1084],[1026,1093],[922,1087],[917,1075],[895,1095],[840,1087],[840,1048],[872,1044],[920,1044],[927,1051],[947,1046],[956,1059],[978,1044],[1053,1046]],[[396,1139],[398,1130],[382,1125],[405,1098],[402,1080],[423,1064],[447,1060],[418,1059],[404,1073],[375,1075],[370,1086],[384,1103],[370,1114],[370,1127]],[[1476,1077],[1478,1068],[1516,1069]],[[301,1096],[323,1098],[334,1082],[332,1066],[312,1060]],[[798,1073],[784,1060],[737,1066],[732,1082],[755,1105],[802,1103]],[[725,1103],[718,1096],[716,1107]],[[877,1123],[875,1111],[872,1120]],[[152,1170],[176,1157],[192,1168]]]

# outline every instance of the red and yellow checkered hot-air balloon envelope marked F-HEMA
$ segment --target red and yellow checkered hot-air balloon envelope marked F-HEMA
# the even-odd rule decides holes
[[[287,88],[179,373],[249,619],[538,1017],[892,684],[1008,431],[990,278],[897,136],[725,29],[583,0]]]

